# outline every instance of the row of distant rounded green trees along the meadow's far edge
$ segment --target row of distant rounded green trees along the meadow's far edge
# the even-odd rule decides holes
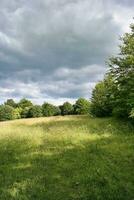
[[[69,102],[55,106],[45,102],[43,105],[33,105],[28,99],[21,99],[16,103],[13,99],[8,99],[0,105],[0,121],[48,117],[57,115],[85,115],[89,113],[91,103],[85,98],[79,98],[74,105]]]

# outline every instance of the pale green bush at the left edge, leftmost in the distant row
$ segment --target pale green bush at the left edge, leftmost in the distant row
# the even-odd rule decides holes
[[[14,108],[8,105],[0,106],[0,121],[12,120]]]

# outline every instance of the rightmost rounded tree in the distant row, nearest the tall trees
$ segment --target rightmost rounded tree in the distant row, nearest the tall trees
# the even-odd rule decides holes
[[[74,105],[74,113],[78,115],[89,114],[91,103],[84,98],[79,98]]]

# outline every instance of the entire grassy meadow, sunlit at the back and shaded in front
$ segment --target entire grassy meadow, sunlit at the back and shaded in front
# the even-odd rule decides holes
[[[0,200],[133,200],[134,128],[112,118],[0,123]]]

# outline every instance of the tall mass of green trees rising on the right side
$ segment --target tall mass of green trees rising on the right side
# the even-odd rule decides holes
[[[109,73],[92,93],[91,111],[99,117],[128,118],[134,107],[134,25],[121,41],[120,54],[110,59]]]

